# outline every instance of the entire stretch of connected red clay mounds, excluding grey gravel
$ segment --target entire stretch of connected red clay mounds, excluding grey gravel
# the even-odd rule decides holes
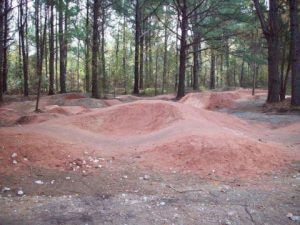
[[[36,116],[53,113],[55,119],[0,128],[0,171],[9,173],[17,168],[12,164],[13,152],[26,156],[26,165],[31,167],[65,168],[70,159],[76,160],[89,151],[122,158],[141,168],[190,171],[203,177],[213,173],[225,179],[262,175],[299,160],[297,152],[282,144],[258,139],[268,126],[208,110],[233,107],[234,100],[240,98],[251,98],[249,91],[194,93],[179,102],[118,102],[93,110],[47,106],[42,100],[48,112]],[[298,126],[291,127],[292,132],[295,129]],[[132,160],[136,157],[138,160]]]

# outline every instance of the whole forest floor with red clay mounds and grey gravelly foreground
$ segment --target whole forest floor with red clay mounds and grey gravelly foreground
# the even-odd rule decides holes
[[[299,224],[300,113],[247,89],[6,96],[0,225]]]

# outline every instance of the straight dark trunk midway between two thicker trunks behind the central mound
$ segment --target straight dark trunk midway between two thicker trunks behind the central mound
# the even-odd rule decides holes
[[[140,46],[140,4],[135,4],[135,54],[134,54],[134,88],[133,94],[139,94],[139,46]]]

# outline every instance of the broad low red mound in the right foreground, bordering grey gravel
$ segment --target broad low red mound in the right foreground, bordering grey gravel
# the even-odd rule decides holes
[[[226,134],[183,136],[145,151],[141,158],[142,165],[153,168],[227,178],[264,174],[295,159],[278,147]]]

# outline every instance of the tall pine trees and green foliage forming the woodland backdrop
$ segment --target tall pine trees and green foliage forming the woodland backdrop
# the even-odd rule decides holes
[[[297,0],[2,0],[0,101],[240,86],[300,105],[299,11]]]

